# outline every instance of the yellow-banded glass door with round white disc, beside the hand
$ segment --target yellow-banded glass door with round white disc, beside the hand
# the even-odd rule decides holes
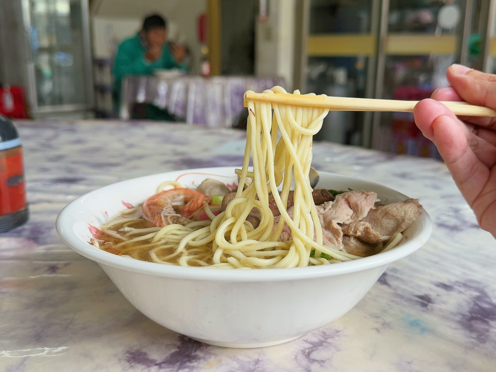
[[[381,21],[383,35],[375,96],[421,100],[448,86],[445,71],[469,63],[473,16],[479,1],[390,0]],[[473,43],[472,43],[473,44]],[[438,157],[418,130],[413,114],[375,113],[372,147],[395,153]]]

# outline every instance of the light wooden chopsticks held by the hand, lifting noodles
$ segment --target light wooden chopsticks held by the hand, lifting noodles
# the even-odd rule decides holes
[[[328,108],[330,111],[389,111],[411,113],[419,101],[379,100],[370,98],[325,97],[304,94],[245,93],[247,101],[271,102],[285,105]],[[496,118],[496,110],[466,102],[442,102],[453,114]]]

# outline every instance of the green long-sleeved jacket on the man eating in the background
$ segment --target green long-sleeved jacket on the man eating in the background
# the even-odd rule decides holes
[[[186,64],[179,64],[172,57],[169,46],[166,44],[162,49],[162,57],[157,61],[148,62],[145,60],[146,49],[139,37],[139,34],[125,39],[117,49],[114,62],[114,104],[119,108],[121,100],[121,83],[127,75],[152,75],[155,69],[181,68],[186,69]]]

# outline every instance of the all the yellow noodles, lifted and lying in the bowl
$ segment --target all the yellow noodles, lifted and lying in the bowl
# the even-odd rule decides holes
[[[274,87],[264,93],[286,91]],[[300,92],[295,91],[295,94]],[[321,108],[248,101],[243,167],[236,172],[239,186],[226,210],[215,216],[206,206],[210,221],[186,219],[182,224],[172,223],[172,217],[182,217],[172,210],[162,216],[170,223],[163,228],[133,228],[136,222],[121,216],[121,222],[125,219],[126,226],[131,228],[119,232],[122,236],[118,239],[122,242],[115,247],[126,245],[119,254],[138,258],[146,246],[153,262],[172,264],[171,260],[177,260],[182,266],[223,269],[301,267],[359,258],[322,244],[322,227],[311,194],[309,172],[312,136],[320,130],[327,113],[327,109]],[[252,171],[248,170],[250,158]],[[167,186],[183,187],[171,181],[161,184],[158,191]],[[294,190],[293,218],[287,211],[291,189]],[[276,226],[269,208],[270,194],[281,213]],[[247,220],[253,208],[258,209],[261,217],[256,228]],[[165,208],[162,213],[166,213]],[[290,227],[293,237],[287,242],[279,241],[284,224]],[[118,234],[111,229],[109,224],[102,227],[107,234]],[[401,239],[401,234],[395,235],[384,250],[397,245]],[[143,240],[149,243],[140,245]],[[103,248],[101,241],[100,248]],[[321,257],[322,253],[330,259]]]

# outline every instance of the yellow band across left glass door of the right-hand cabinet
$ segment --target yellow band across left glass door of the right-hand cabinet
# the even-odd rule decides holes
[[[372,56],[376,38],[369,34],[310,35],[307,40],[309,57]]]

